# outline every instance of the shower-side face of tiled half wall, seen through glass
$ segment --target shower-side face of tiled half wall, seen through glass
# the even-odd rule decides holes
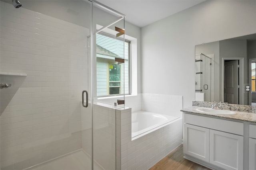
[[[102,106],[100,106],[102,105]],[[91,104],[82,110],[82,149],[91,156],[92,113]],[[93,107],[93,153],[95,165],[105,170],[116,166],[116,109],[108,104],[94,104]]]

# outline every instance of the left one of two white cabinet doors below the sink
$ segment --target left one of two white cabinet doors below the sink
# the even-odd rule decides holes
[[[184,124],[184,154],[209,162],[209,129]]]

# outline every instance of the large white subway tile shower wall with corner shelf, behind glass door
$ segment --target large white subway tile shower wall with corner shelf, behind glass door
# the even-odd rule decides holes
[[[81,149],[89,29],[0,2],[1,170]],[[83,77],[83,78],[81,78]]]

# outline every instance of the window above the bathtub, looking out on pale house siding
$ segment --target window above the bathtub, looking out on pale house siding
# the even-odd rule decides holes
[[[97,34],[96,57],[97,96],[130,94],[130,41]],[[124,58],[124,63],[115,58]]]

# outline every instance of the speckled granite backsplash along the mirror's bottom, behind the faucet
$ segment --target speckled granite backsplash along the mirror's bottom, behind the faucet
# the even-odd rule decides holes
[[[192,101],[192,106],[212,107],[212,102]],[[224,106],[222,106],[222,108],[225,109],[225,110],[256,113],[256,106],[247,106],[247,105],[238,105],[238,104],[225,104]]]

